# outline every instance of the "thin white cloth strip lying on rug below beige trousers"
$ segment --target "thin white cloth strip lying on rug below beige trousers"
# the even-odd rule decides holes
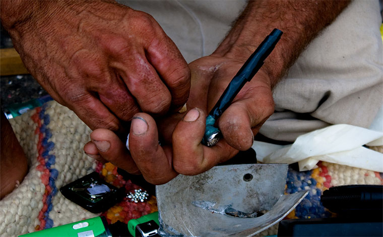
[[[333,125],[299,136],[292,145],[254,141],[257,159],[264,163],[295,163],[299,170],[316,168],[320,160],[383,172],[383,154],[362,147],[383,146],[383,132],[351,125]]]

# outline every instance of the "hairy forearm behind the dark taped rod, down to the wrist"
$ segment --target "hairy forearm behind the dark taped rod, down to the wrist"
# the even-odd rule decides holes
[[[284,32],[263,69],[273,87],[295,62],[305,46],[329,25],[349,1],[249,1],[215,55],[241,60],[257,48],[274,28]]]

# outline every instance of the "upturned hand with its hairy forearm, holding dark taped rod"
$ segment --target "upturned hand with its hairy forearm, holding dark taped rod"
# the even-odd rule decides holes
[[[307,1],[305,4],[249,1],[213,55],[189,65],[192,85],[187,107],[190,110],[183,120],[182,114],[175,114],[158,121],[161,141],[165,141],[163,147],[157,143],[157,126],[153,118],[140,113],[132,122],[131,155],[108,130],[96,130],[91,138],[93,141],[110,141],[110,149],[100,151],[94,143],[88,143],[84,150],[127,171],[142,172],[145,179],[154,184],[166,183],[177,173],[201,173],[233,157],[238,150],[246,150],[251,146],[253,134],[274,111],[271,88],[310,40],[330,24],[347,4],[346,1]],[[274,28],[282,30],[284,36],[261,70],[245,84],[220,117],[218,126],[223,139],[214,147],[203,146],[201,140],[207,112],[247,57]],[[136,123],[138,121],[145,122]],[[144,132],[134,133],[136,129]]]

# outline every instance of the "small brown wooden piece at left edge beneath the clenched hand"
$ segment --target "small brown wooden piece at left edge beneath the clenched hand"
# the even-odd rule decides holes
[[[0,76],[29,74],[14,48],[0,49]]]

